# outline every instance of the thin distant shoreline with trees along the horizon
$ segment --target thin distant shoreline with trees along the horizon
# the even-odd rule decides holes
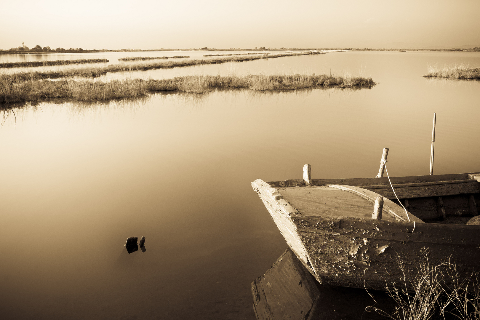
[[[303,50],[349,50],[349,51],[454,51],[454,52],[480,52],[480,47],[474,48],[450,48],[450,49],[387,49],[387,48],[268,48],[268,49],[145,49],[145,50],[83,50],[72,52],[0,52],[1,54],[66,54],[66,53],[110,53],[110,52],[151,52],[151,51],[303,51]]]

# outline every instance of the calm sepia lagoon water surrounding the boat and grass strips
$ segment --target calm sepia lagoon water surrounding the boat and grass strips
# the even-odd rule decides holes
[[[383,147],[391,176],[428,174],[433,112],[434,173],[480,171],[480,82],[422,78],[435,63],[480,66],[480,53],[339,52],[107,75],[331,72],[378,85],[4,113],[3,318],[255,319],[250,283],[286,243],[254,179],[301,178],[306,163],[313,178],[374,177]],[[141,236],[146,252],[128,254],[126,238]]]

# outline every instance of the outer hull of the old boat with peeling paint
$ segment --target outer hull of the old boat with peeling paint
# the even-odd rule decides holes
[[[253,189],[321,284],[384,290],[416,274],[426,256],[433,264],[454,262],[460,277],[479,266],[479,226],[309,216],[260,181]]]

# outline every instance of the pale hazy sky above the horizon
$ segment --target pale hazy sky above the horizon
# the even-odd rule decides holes
[[[480,0],[0,0],[0,48],[480,46]]]

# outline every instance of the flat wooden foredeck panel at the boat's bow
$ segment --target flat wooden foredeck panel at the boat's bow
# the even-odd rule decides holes
[[[301,214],[324,218],[338,216],[372,218],[373,203],[345,190],[325,186],[275,189]],[[382,219],[395,221],[389,214],[384,214]]]

